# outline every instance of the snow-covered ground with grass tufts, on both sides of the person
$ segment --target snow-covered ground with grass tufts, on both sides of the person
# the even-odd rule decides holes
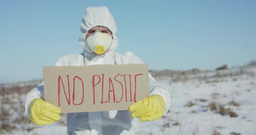
[[[158,82],[171,94],[169,112],[141,122],[138,135],[256,135],[255,74]],[[29,132],[18,128],[3,135],[66,135],[60,122],[30,126]]]

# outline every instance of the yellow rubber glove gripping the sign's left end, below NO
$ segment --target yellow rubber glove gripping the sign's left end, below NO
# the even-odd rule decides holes
[[[36,125],[48,125],[60,119],[59,107],[40,98],[33,99],[29,105],[30,119]]]

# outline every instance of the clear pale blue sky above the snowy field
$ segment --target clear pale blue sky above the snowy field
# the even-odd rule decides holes
[[[0,83],[42,78],[42,67],[81,53],[87,6],[107,6],[118,50],[149,69],[215,69],[256,59],[255,0],[1,0]]]

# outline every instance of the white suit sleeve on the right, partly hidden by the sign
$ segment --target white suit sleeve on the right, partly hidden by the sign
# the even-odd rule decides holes
[[[134,55],[132,52],[126,52],[122,57],[123,64],[142,64],[144,63],[138,56]],[[163,97],[165,102],[164,115],[170,108],[171,95],[164,88],[159,86],[158,82],[152,77],[148,72],[148,85],[149,85],[149,95],[159,94]]]

